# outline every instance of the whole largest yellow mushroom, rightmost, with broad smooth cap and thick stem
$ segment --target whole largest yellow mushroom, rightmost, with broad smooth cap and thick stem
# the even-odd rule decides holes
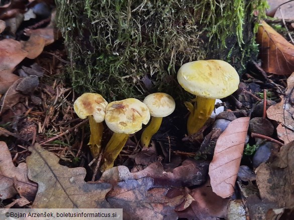
[[[215,99],[231,95],[238,89],[239,75],[222,60],[200,60],[180,67],[177,80],[187,92],[196,95],[195,104],[186,103],[190,115],[187,121],[188,134],[198,132],[209,119]]]

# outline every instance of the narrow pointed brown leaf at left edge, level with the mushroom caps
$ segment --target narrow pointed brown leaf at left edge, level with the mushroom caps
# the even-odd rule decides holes
[[[16,105],[19,100],[24,97],[24,95],[20,94],[16,88],[20,84],[23,78],[18,79],[13,83],[13,85],[7,90],[4,97],[2,98],[0,105],[0,115],[3,114],[6,110],[12,108],[14,105]]]

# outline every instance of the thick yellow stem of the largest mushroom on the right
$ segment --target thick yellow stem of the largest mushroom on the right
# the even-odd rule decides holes
[[[214,110],[216,100],[197,96],[195,101],[187,121],[188,135],[198,132],[205,125]]]

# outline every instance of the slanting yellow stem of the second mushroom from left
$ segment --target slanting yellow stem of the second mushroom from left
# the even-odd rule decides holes
[[[113,167],[115,159],[118,157],[118,155],[122,151],[129,136],[130,136],[129,134],[124,134],[124,133],[116,133],[116,132],[113,133],[111,139],[109,140],[109,142],[107,143],[105,147],[105,152],[103,154],[104,164],[101,167],[103,172]]]

